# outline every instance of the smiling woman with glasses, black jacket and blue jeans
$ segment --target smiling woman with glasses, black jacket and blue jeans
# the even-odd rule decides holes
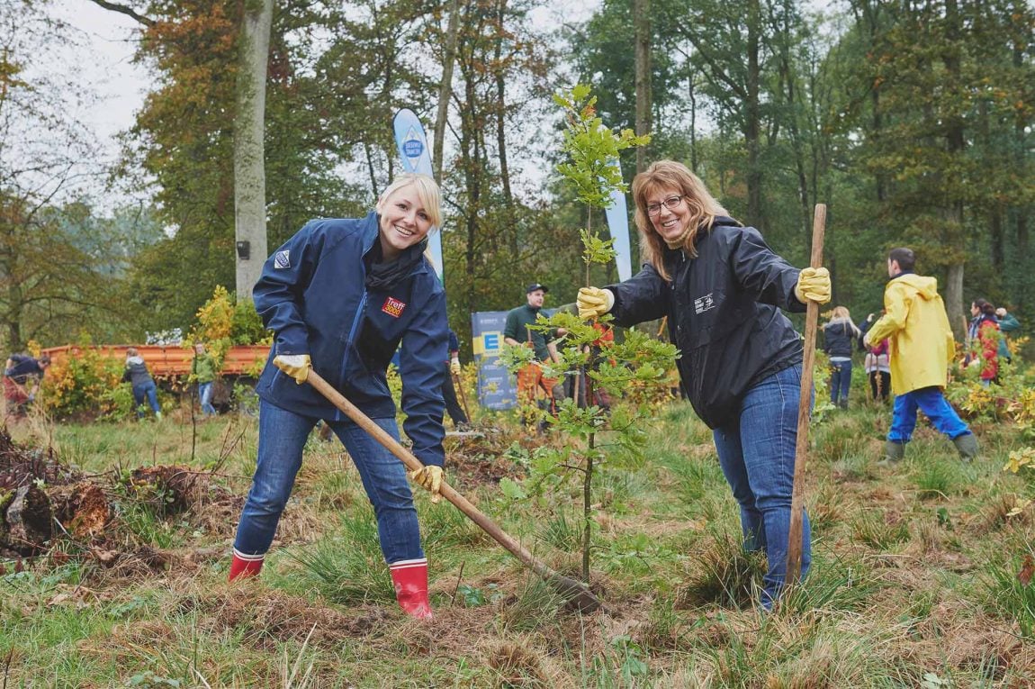
[[[579,315],[612,313],[619,325],[668,316],[679,374],[740,504],[744,546],[765,550],[761,603],[779,595],[787,569],[801,336],[780,312],[830,299],[826,268],[799,270],[758,230],[729,217],[686,167],[651,165],[632,181],[641,253],[634,277],[579,292]],[[810,394],[810,391],[806,392]],[[803,520],[801,575],[810,563]]]

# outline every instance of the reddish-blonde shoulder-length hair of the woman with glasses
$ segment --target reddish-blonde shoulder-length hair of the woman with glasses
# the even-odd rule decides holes
[[[690,211],[690,231],[683,242],[683,250],[697,257],[698,232],[710,231],[716,216],[729,216],[718,201],[708,192],[701,178],[676,161],[658,161],[641,172],[632,180],[632,200],[637,205],[635,223],[640,230],[640,255],[649,261],[664,280],[669,272],[664,269],[664,239],[657,233],[647,214],[647,198],[657,190],[676,190],[683,197],[683,203]]]

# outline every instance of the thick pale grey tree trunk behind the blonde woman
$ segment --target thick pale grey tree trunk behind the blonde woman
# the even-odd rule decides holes
[[[237,240],[237,297],[252,288],[266,261],[265,134],[266,64],[273,0],[244,5],[234,115],[234,236]]]

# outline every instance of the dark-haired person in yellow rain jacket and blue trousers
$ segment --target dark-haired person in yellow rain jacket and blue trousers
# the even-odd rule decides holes
[[[891,280],[884,288],[885,313],[863,339],[866,346],[888,340],[895,402],[884,443],[885,463],[905,456],[918,409],[952,439],[959,456],[970,461],[977,456],[977,440],[942,394],[948,382],[948,366],[955,357],[949,317],[938,294],[938,281],[913,272],[915,265],[912,249],[892,249],[888,254]]]

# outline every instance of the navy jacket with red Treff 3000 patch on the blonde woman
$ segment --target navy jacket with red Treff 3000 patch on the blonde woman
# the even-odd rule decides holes
[[[277,249],[253,290],[276,342],[256,392],[295,413],[346,417],[314,387],[273,366],[277,354],[308,354],[313,369],[372,419],[391,419],[385,372],[402,341],[404,429],[413,454],[442,466],[442,383],[448,358],[445,291],[426,259],[392,287],[368,290],[363,257],[378,240],[378,216],[315,220]]]

